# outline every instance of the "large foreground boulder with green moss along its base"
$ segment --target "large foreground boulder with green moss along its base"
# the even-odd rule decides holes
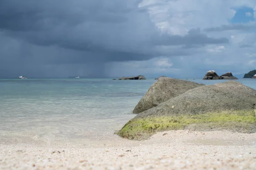
[[[147,139],[157,131],[178,129],[256,133],[255,105],[256,90],[239,82],[204,85],[138,114],[118,134]]]

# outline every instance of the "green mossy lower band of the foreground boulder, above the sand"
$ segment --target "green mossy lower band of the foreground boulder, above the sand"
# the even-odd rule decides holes
[[[148,139],[164,130],[231,130],[241,133],[256,133],[254,110],[222,111],[190,116],[135,117],[118,132],[127,139]]]

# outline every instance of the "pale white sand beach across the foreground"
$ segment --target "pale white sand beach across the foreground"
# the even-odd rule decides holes
[[[256,170],[256,133],[177,130],[147,141],[113,135],[90,145],[0,144],[0,169]]]

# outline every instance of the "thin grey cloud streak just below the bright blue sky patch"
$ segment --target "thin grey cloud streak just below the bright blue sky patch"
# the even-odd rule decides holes
[[[206,28],[204,31],[215,32],[215,31],[230,31],[230,30],[242,30],[242,31],[253,31],[256,29],[255,23],[239,23],[239,24],[230,24],[230,25],[222,25],[219,27]]]

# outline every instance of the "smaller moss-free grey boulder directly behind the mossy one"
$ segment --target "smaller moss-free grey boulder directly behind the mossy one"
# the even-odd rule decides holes
[[[140,99],[140,102],[134,108],[133,113],[141,113],[150,108],[156,107],[162,102],[165,102],[173,97],[185,93],[186,91],[197,88],[204,84],[190,82],[186,80],[173,79],[162,77],[157,80],[148,89],[146,94]]]

